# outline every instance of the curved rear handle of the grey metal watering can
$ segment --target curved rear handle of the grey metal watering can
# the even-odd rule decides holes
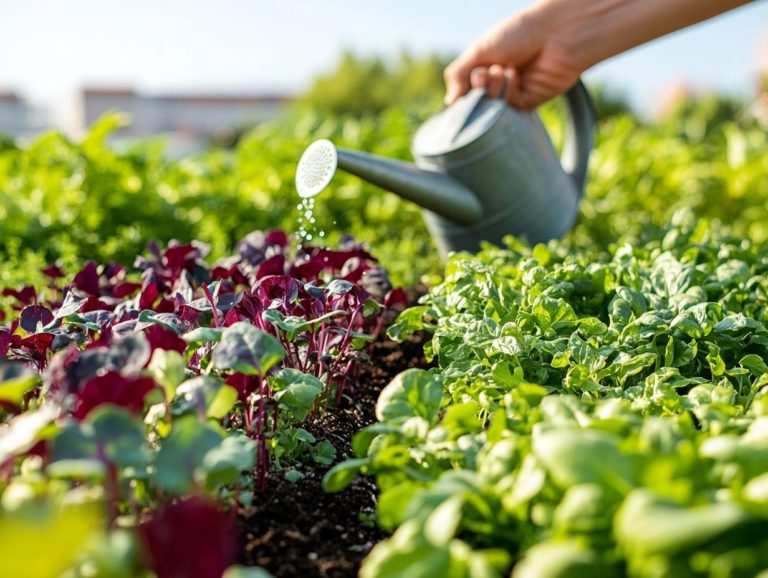
[[[581,80],[565,94],[570,122],[565,129],[561,163],[581,198],[587,180],[589,154],[595,143],[595,108]]]

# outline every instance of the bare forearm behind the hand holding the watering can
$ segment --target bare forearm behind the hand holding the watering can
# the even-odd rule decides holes
[[[562,38],[584,69],[749,0],[541,0],[528,17]]]

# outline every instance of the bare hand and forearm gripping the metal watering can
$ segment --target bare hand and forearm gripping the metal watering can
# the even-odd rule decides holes
[[[748,3],[538,0],[446,67],[445,102],[451,104],[470,87],[485,86],[490,96],[504,90],[509,104],[532,109],[568,90],[593,64]]]

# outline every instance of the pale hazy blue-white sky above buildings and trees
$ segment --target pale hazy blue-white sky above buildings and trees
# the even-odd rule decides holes
[[[56,107],[82,84],[146,92],[297,92],[345,48],[452,55],[525,0],[0,0],[0,90]],[[751,91],[768,2],[587,71],[650,110],[665,86]]]

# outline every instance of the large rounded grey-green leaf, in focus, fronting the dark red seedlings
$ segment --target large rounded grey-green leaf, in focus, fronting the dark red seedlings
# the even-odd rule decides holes
[[[213,350],[217,369],[231,369],[247,375],[266,375],[285,357],[285,349],[272,335],[247,321],[227,327]]]

